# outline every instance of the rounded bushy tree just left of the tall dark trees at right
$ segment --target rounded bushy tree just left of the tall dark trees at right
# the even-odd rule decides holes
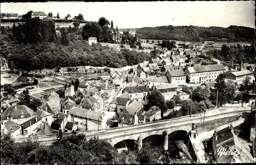
[[[198,86],[192,92],[192,100],[197,102],[207,100],[209,96],[210,96],[210,90],[207,87],[203,88],[202,86]]]

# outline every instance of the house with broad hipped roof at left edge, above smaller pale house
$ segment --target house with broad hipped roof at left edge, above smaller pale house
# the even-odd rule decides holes
[[[19,119],[24,119],[28,117],[32,117],[34,115],[34,110],[30,109],[26,105],[15,105],[8,107],[1,114],[1,121],[7,121],[12,119],[13,121],[17,121]]]

